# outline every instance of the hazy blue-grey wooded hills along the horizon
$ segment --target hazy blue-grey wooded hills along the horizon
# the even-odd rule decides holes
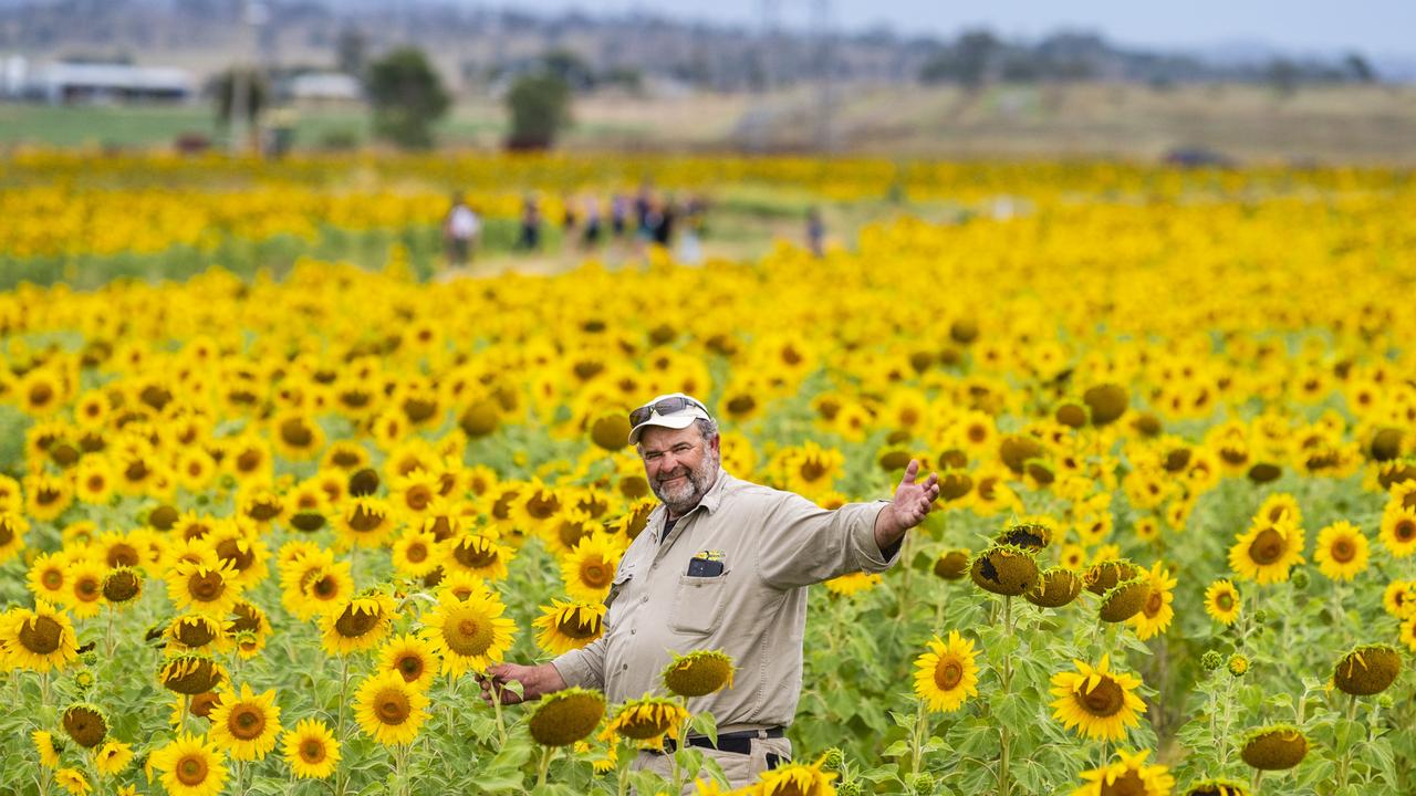
[[[759,91],[814,81],[875,84],[1107,81],[1153,85],[1281,85],[1409,79],[1416,64],[1352,52],[1290,57],[1250,48],[1167,52],[1126,47],[1086,31],[1012,41],[988,31],[954,38],[874,30],[828,40],[810,31],[675,21],[651,13],[531,14],[446,1],[273,0],[259,3],[258,47],[268,65],[357,69],[379,51],[415,41],[463,92],[496,88],[547,52],[569,55],[586,85],[646,82],[711,91]],[[0,0],[0,55],[130,59],[225,68],[242,44],[241,0]],[[1389,74],[1388,74],[1389,69]]]

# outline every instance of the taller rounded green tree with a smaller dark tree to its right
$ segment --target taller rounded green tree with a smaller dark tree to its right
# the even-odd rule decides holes
[[[374,135],[404,149],[432,146],[430,126],[452,105],[442,78],[416,47],[394,50],[370,64],[368,99]]]

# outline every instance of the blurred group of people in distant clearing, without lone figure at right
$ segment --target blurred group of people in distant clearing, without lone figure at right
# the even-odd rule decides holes
[[[695,262],[701,258],[700,241],[705,231],[708,201],[698,194],[680,201],[673,194],[664,195],[650,186],[641,186],[633,195],[615,193],[609,201],[589,193],[566,197],[561,207],[559,227],[565,248],[595,251],[606,242],[619,242],[632,245],[633,251],[641,255],[651,244],[674,248],[677,241],[678,259]],[[541,251],[545,242],[545,225],[541,201],[535,195],[527,195],[521,203],[521,218],[513,249]],[[481,214],[462,193],[455,193],[442,222],[449,266],[469,265],[473,254],[484,245],[483,232]]]

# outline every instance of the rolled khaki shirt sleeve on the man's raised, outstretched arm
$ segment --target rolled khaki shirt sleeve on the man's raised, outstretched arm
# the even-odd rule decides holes
[[[779,491],[765,513],[758,571],[767,584],[786,589],[818,584],[851,572],[884,572],[898,559],[899,545],[881,551],[875,518],[889,503],[848,503],[821,508],[789,491]]]

